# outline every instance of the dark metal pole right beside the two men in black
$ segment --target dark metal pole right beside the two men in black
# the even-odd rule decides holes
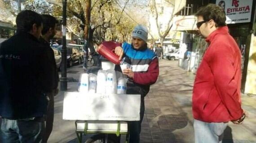
[[[62,77],[61,90],[67,90],[67,78],[66,78],[66,0],[62,0],[63,3],[63,19],[62,19]]]

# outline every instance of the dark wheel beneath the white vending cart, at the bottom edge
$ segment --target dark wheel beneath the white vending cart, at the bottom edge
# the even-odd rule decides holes
[[[85,143],[106,143],[106,134],[93,135]],[[107,135],[107,143],[120,143],[120,141],[115,135]]]

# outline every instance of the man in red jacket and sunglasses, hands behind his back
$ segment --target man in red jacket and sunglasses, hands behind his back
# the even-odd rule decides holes
[[[228,33],[225,12],[208,4],[195,14],[199,33],[209,46],[197,70],[192,108],[195,143],[221,143],[229,121],[240,124],[241,53]]]

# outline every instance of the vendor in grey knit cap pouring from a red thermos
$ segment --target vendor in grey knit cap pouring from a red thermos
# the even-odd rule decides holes
[[[141,95],[140,121],[128,123],[130,139],[129,143],[140,142],[141,122],[144,116],[144,97],[150,90],[150,85],[154,84],[159,75],[158,58],[154,52],[147,48],[148,30],[145,26],[137,25],[132,32],[132,44],[124,43],[115,48],[115,54],[119,59],[125,56],[126,62],[132,65],[121,71],[128,77],[127,94]]]

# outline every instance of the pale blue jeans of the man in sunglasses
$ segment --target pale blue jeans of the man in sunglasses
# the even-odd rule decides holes
[[[194,119],[195,143],[222,143],[223,133],[228,123],[202,122]]]

